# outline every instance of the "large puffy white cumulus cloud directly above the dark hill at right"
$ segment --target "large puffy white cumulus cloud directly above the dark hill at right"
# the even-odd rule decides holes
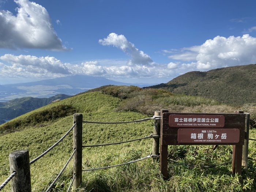
[[[184,52],[188,50],[188,52]],[[208,39],[200,46],[183,48],[180,53],[169,56],[171,59],[191,61],[181,64],[184,71],[203,70],[248,65],[256,63],[256,38],[249,34],[228,38],[217,36]],[[185,70],[187,69],[187,70]]]

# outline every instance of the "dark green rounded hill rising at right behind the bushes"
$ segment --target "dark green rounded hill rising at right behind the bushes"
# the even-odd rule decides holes
[[[256,64],[213,69],[207,72],[192,71],[151,88],[202,96],[231,105],[256,103]]]

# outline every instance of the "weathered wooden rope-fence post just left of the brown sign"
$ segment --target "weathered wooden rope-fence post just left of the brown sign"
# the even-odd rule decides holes
[[[160,111],[155,111],[154,116],[160,116]],[[154,121],[153,135],[160,135],[160,118]],[[160,138],[153,138],[152,155],[159,155],[159,140]],[[157,157],[152,158],[153,162],[157,162]]]

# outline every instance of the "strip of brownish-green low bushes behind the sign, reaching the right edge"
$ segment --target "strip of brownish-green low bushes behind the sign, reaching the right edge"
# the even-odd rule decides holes
[[[253,103],[244,104],[242,107],[227,106],[208,98],[174,95],[164,89],[141,89],[135,86],[111,86],[102,89],[101,92],[120,99],[117,110],[147,115],[152,115],[160,109],[182,113],[234,113],[240,109],[250,113],[250,128],[256,128],[256,104]]]

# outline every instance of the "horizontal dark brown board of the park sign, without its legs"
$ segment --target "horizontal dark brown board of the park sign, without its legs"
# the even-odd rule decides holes
[[[176,122],[175,122],[176,121]],[[177,122],[178,121],[178,122]],[[185,121],[185,122],[184,122]],[[192,122],[189,122],[192,121]],[[202,122],[203,121],[203,122]],[[206,122],[204,122],[206,121]],[[212,122],[211,122],[212,121]],[[238,129],[239,133],[234,133],[236,136],[239,134],[239,138],[235,140],[222,140],[212,142],[179,142],[178,141],[178,129],[198,129],[199,131],[209,131],[217,129]],[[162,127],[161,127],[161,144],[162,145],[180,145],[180,144],[200,144],[200,145],[220,145],[220,144],[244,144],[244,129],[245,129],[245,114],[235,113],[163,113],[162,114]],[[183,129],[182,129],[183,130]],[[234,131],[234,130],[233,130]],[[232,134],[233,131],[229,131]],[[191,132],[192,133],[192,132]],[[191,133],[187,133],[187,137],[190,137]],[[225,132],[223,132],[225,133]],[[198,134],[198,133],[197,133]],[[215,135],[214,135],[215,136]],[[206,137],[206,136],[204,136]],[[206,140],[206,139],[203,139]],[[217,139],[218,140],[218,139]],[[237,141],[238,140],[238,141]]]

